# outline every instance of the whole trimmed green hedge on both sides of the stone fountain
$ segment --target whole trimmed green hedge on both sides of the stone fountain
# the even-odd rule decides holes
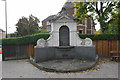
[[[24,37],[14,37],[2,39],[2,44],[36,44],[37,40],[40,38],[48,39],[50,35],[48,33],[39,33],[28,35]],[[117,34],[99,34],[99,35],[88,35],[88,34],[79,34],[80,38],[85,39],[86,37],[91,38],[92,40],[118,40]]]

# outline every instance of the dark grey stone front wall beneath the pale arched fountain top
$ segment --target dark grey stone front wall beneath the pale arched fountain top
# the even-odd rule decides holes
[[[80,59],[96,61],[95,46],[35,47],[36,63],[55,59]]]

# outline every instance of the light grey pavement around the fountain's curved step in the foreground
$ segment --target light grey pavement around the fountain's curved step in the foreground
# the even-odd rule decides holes
[[[99,69],[74,73],[57,73],[39,70],[28,60],[11,60],[2,62],[3,78],[118,78],[118,63],[103,62]]]

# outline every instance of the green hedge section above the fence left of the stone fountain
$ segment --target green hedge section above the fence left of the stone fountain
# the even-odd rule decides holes
[[[40,38],[44,38],[45,40],[49,37],[48,33],[39,33],[33,34],[23,37],[14,37],[14,38],[7,38],[2,39],[2,44],[36,44],[37,40]]]

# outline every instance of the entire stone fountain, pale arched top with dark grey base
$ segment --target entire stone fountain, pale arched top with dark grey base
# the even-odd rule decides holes
[[[41,64],[41,62],[67,59],[92,61],[91,66],[88,66],[86,69],[95,65],[97,60],[95,46],[92,44],[92,40],[90,38],[81,39],[78,36],[76,21],[77,19],[64,12],[58,13],[50,20],[50,37],[47,40],[39,39],[37,41],[37,45],[34,47],[34,63],[39,63],[37,65],[39,68],[42,67],[42,69],[45,68],[49,70],[49,67],[46,67],[45,63],[44,65]],[[46,62],[46,64],[48,64],[48,62]],[[50,70],[52,69],[63,72],[79,70],[79,68],[62,70],[50,67]],[[82,68],[80,70],[82,70]]]

